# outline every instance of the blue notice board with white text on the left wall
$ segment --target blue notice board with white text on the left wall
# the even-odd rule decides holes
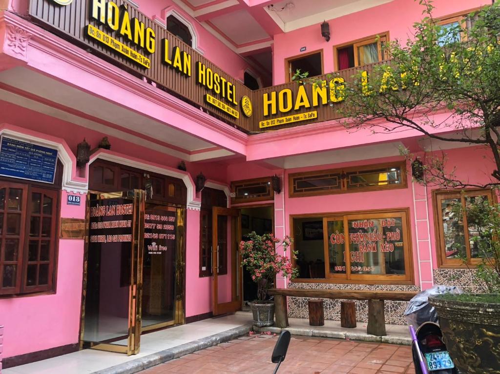
[[[57,150],[1,137],[0,175],[53,183]]]

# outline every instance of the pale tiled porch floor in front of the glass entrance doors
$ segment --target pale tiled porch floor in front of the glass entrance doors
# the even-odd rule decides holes
[[[230,330],[251,321],[250,315],[229,315],[172,327],[140,337],[140,353],[123,354],[83,350],[53,359],[3,369],[1,374],[89,374],[158,351]],[[4,344],[7,344],[5,342]]]

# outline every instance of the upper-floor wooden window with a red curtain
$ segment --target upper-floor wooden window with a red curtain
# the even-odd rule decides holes
[[[367,65],[387,58],[383,44],[388,40],[388,34],[369,36],[333,47],[337,70],[348,69],[354,66]]]

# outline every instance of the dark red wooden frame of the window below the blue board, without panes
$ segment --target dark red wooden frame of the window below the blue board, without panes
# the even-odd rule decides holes
[[[57,168],[60,169],[62,166],[57,165]],[[56,170],[57,174],[57,170]],[[61,175],[59,173],[59,175]],[[60,179],[60,178],[58,178]],[[24,182],[24,183],[22,183]],[[22,188],[23,189],[23,197],[24,207],[21,211],[21,226],[19,231],[19,251],[17,254],[17,273],[16,273],[16,286],[8,289],[4,289],[0,287],[0,296],[7,298],[16,298],[16,297],[24,297],[31,296],[35,294],[52,294],[55,293],[56,288],[56,278],[57,278],[57,256],[58,256],[58,228],[60,224],[60,199],[61,199],[61,188],[60,181],[54,181],[54,184],[45,184],[39,183],[36,181],[20,181],[15,180],[12,181],[10,178],[1,178],[0,184],[7,188]],[[37,261],[28,261],[29,254],[29,239],[31,238],[29,235],[30,229],[30,218],[31,218],[31,194],[32,193],[41,193],[42,196],[48,195],[52,198],[52,211],[51,211],[51,226],[50,226],[50,248],[48,254],[48,261],[40,261],[39,253],[40,249],[38,249],[38,260]],[[7,196],[5,196],[5,201]],[[40,218],[43,216],[43,213],[40,212]],[[5,217],[4,217],[5,219]],[[42,225],[42,220],[40,219],[40,230]],[[37,239],[41,238],[41,231]],[[2,240],[3,242],[3,240]],[[36,286],[27,286],[26,285],[26,277],[27,277],[27,267],[28,265],[37,265],[36,272],[36,280],[39,278],[39,265],[40,263],[48,263],[48,274],[47,274],[47,284],[46,285],[36,285]],[[3,262],[2,262],[3,265]],[[0,275],[2,277],[2,275]],[[0,283],[3,281],[3,278],[0,279]],[[1,284],[0,284],[1,286]]]

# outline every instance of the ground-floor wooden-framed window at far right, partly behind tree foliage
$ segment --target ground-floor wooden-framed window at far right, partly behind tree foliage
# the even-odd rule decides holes
[[[482,204],[492,202],[491,190],[437,191],[434,215],[437,226],[438,261],[442,266],[481,262],[480,240],[487,231],[481,223]],[[487,239],[487,238],[486,238]]]

